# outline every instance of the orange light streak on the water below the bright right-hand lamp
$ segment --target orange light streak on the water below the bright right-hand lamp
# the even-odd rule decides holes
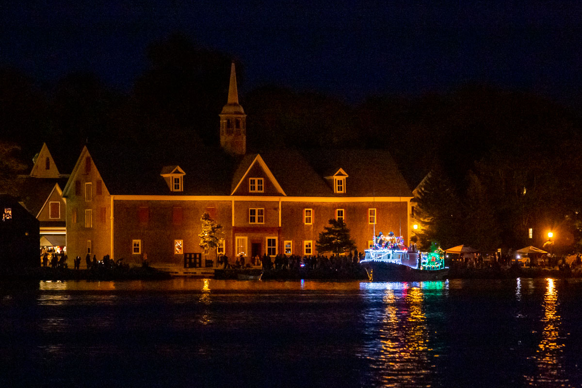
[[[546,279],[544,295],[544,330],[536,354],[532,357],[537,366],[537,376],[526,376],[531,386],[536,387],[570,387],[562,366],[564,337],[560,337],[561,317],[558,314],[558,292],[555,280]]]

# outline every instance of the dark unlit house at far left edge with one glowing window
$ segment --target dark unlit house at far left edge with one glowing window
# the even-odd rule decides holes
[[[40,223],[10,195],[0,195],[0,268],[40,266]]]

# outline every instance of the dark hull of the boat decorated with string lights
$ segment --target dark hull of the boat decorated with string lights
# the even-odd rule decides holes
[[[420,282],[424,280],[443,280],[449,269],[416,269],[402,264],[371,261],[361,263],[372,282]]]

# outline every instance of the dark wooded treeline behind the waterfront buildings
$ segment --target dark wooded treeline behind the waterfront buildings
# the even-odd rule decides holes
[[[244,64],[179,34],[152,42],[145,55],[147,68],[129,92],[91,73],[40,84],[0,68],[0,158],[8,166],[2,174],[30,165],[44,141],[56,158],[73,160],[86,143],[172,156],[218,145],[230,62],[239,90]],[[527,243],[526,227],[563,228],[568,234],[560,237],[580,240],[580,118],[548,99],[465,85],[420,97],[370,97],[357,106],[279,86],[256,88],[240,100],[249,115],[250,151],[386,148],[411,188],[432,170],[419,201],[421,243],[515,247]],[[6,143],[22,148],[19,160],[9,158]]]

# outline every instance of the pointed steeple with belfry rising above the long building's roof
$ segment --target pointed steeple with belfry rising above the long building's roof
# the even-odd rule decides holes
[[[230,65],[230,83],[228,99],[220,113],[220,144],[233,155],[244,155],[246,152],[246,116],[239,104],[239,93],[236,90],[235,63]]]

